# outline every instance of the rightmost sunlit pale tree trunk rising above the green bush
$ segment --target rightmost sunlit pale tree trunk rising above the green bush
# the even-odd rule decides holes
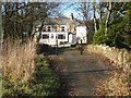
[[[105,36],[107,35],[107,32],[108,32],[110,13],[111,13],[111,2],[108,2],[108,3],[107,3],[107,17],[106,17],[106,24],[105,24],[105,25],[106,25]]]

